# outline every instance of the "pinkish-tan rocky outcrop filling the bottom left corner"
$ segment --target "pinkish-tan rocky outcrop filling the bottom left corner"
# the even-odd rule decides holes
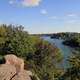
[[[15,55],[4,57],[5,64],[0,64],[0,80],[31,80],[30,74],[24,70],[24,62]],[[32,72],[31,72],[32,73]]]

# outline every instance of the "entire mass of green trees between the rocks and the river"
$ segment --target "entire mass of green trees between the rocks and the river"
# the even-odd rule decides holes
[[[61,60],[59,49],[37,36],[30,36],[21,25],[0,26],[0,55],[6,54],[24,58],[25,68],[40,80],[54,80],[60,75],[56,68]]]

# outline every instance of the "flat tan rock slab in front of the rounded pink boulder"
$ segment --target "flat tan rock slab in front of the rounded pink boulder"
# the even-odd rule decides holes
[[[16,74],[16,68],[12,65],[0,66],[0,80],[10,80],[13,75]]]

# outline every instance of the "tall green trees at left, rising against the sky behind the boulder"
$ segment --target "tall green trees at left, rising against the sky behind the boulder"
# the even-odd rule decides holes
[[[0,26],[0,53],[5,55],[15,53],[24,57],[28,53],[28,33],[23,31],[22,26],[1,25]]]

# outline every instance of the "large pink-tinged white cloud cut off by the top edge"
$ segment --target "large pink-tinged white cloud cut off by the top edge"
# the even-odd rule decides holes
[[[41,0],[23,0],[22,5],[26,7],[34,7],[40,4]]]

